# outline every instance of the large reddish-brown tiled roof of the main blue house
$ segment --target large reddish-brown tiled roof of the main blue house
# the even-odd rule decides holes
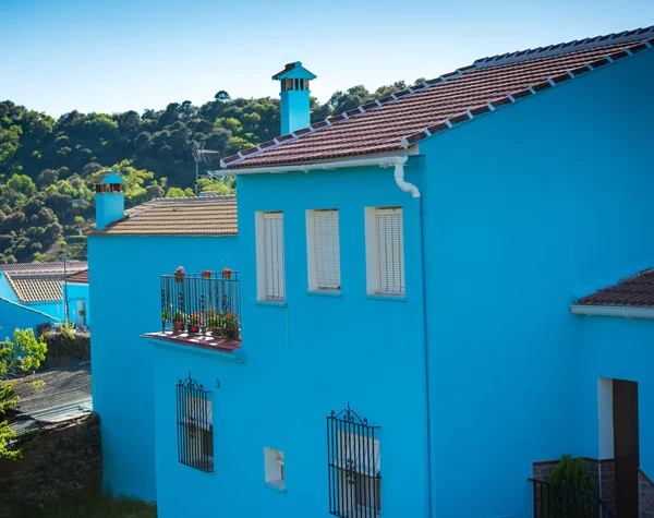
[[[226,157],[228,169],[401,152],[434,133],[654,46],[654,26],[483,58]],[[286,69],[284,69],[286,70]]]

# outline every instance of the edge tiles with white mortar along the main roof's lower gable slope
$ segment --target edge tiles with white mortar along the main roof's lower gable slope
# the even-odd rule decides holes
[[[522,98],[538,94],[545,89],[549,89],[553,86],[558,86],[561,83],[565,83],[567,81],[570,81],[570,80],[573,80],[573,79],[580,76],[581,74],[591,72],[601,67],[605,67],[607,64],[610,64],[610,63],[621,60],[623,58],[628,58],[630,56],[633,56],[637,52],[640,52],[640,51],[649,49],[649,48],[650,49],[654,48],[654,38],[646,39],[646,40],[639,43],[638,45],[634,45],[632,47],[626,47],[623,49],[618,50],[617,52],[607,55],[604,58],[592,61],[591,63],[585,63],[584,65],[578,67],[573,70],[568,70],[562,74],[555,75],[554,77],[549,77],[546,81],[543,81],[542,83],[531,85],[528,88],[524,88],[522,91],[513,92],[512,94],[509,94],[506,97],[501,97],[499,99],[492,100],[491,103],[486,103],[486,105],[481,105],[481,106],[476,106],[474,108],[470,108],[465,112],[463,112],[461,115],[457,115],[455,117],[450,117],[448,120],[446,120],[445,124],[447,124],[447,127],[448,127],[446,129],[451,128],[452,123],[459,123],[459,122],[464,122],[467,120],[472,120],[474,117],[477,117],[480,115],[485,115],[489,111],[494,111],[496,108],[512,105],[513,103],[516,103]],[[484,108],[486,108],[486,109],[484,109]],[[463,118],[464,116],[468,116],[467,119]],[[423,141],[423,140],[429,137],[433,133],[435,133],[435,132],[431,131],[431,128],[423,128],[421,131],[419,131],[416,133],[412,133],[411,135],[404,136],[402,138],[401,145],[403,148],[408,148],[408,147],[419,143],[420,141]]]

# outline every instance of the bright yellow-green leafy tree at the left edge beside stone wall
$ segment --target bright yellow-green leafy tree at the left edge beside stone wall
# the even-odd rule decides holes
[[[0,419],[13,407],[19,397],[12,394],[15,382],[7,381],[10,372],[32,373],[46,359],[47,346],[43,337],[38,340],[32,329],[15,329],[13,340],[9,337],[0,344]],[[0,458],[19,459],[21,451],[8,449],[15,433],[9,427],[7,420],[0,421]]]

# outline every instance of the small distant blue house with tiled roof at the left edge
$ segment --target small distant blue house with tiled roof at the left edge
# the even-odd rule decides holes
[[[86,268],[86,261],[0,265],[0,299],[14,303],[11,316],[9,306],[5,306],[5,312],[0,312],[0,326],[14,329],[20,327],[19,322],[33,323],[38,314],[45,317],[38,317],[40,321],[28,327],[47,322],[63,322],[66,306],[69,320],[74,324],[83,324],[84,318],[81,321],[77,316],[77,304],[84,308],[88,305],[88,278],[73,288],[76,290],[75,300],[69,300],[66,277]],[[25,310],[23,313],[21,308]]]

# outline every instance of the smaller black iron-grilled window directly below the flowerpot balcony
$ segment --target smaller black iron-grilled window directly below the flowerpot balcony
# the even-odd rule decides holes
[[[177,386],[178,458],[183,465],[214,472],[214,411],[209,394],[191,373]]]

